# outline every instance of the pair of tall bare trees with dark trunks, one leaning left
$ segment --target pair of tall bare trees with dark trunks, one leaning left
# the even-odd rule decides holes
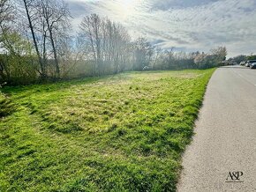
[[[23,0],[34,49],[40,63],[41,78],[47,78],[49,60],[53,58],[55,72],[60,78],[58,41],[66,34],[70,12],[63,0]],[[28,38],[30,35],[27,35]]]

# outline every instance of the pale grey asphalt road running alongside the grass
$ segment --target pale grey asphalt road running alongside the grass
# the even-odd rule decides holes
[[[215,70],[183,166],[177,191],[256,191],[256,70]]]

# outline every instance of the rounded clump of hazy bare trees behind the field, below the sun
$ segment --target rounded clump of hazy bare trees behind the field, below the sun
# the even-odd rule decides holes
[[[131,38],[124,26],[92,14],[80,24],[94,60],[94,75],[117,73],[125,69],[129,60]]]

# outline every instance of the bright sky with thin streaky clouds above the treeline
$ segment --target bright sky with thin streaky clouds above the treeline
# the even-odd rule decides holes
[[[256,0],[66,0],[72,25],[91,13],[147,37],[159,48],[204,51],[226,46],[228,57],[256,54]]]

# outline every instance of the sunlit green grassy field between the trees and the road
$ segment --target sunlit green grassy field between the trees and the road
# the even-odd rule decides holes
[[[5,87],[0,191],[175,191],[213,71]]]

